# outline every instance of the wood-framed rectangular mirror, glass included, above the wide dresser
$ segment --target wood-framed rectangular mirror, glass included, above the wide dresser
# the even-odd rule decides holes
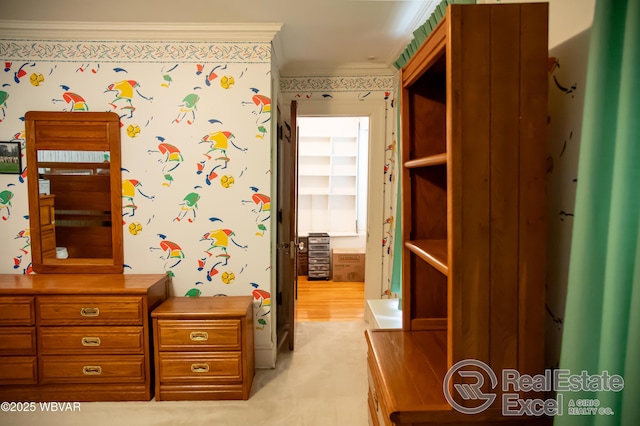
[[[122,273],[120,119],[25,114],[33,270]]]

